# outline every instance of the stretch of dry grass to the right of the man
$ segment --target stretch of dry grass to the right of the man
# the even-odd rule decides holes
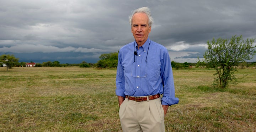
[[[210,85],[214,70],[174,70],[180,102],[168,110],[166,131],[256,131],[255,71],[239,70],[238,77],[247,76],[219,91]]]

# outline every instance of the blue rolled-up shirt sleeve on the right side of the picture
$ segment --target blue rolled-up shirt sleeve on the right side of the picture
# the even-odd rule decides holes
[[[174,78],[172,74],[170,56],[167,49],[162,55],[161,77],[162,84],[164,85],[162,105],[171,106],[173,104],[177,104],[179,99],[175,97]]]

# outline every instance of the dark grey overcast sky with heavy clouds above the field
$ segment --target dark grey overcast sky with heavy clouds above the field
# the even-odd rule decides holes
[[[172,61],[196,62],[213,38],[256,38],[255,0],[0,0],[0,55],[95,63],[134,41],[128,17],[143,6],[154,18],[150,40]]]

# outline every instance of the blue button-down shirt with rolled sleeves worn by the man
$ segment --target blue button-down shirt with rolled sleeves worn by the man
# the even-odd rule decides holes
[[[137,55],[134,55],[134,51]],[[118,53],[116,95],[148,96],[163,94],[162,104],[178,103],[167,49],[148,40],[143,46],[136,41],[123,46]]]

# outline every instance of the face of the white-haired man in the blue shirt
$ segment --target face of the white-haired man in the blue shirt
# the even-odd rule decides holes
[[[132,19],[132,34],[139,46],[142,46],[148,39],[151,27],[149,19],[145,13],[135,13]]]

